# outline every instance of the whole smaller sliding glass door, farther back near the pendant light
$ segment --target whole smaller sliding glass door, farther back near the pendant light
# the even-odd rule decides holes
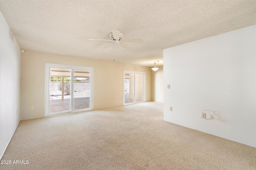
[[[124,71],[124,104],[144,102],[145,72]]]

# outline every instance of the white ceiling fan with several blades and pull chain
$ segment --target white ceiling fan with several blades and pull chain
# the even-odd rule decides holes
[[[106,45],[104,48],[108,48],[113,44],[119,44],[124,49],[131,49],[132,47],[124,44],[124,43],[142,43],[143,39],[123,39],[123,33],[117,30],[112,30],[110,33],[110,39],[88,39],[88,40],[96,40],[96,41],[109,41],[110,44]]]

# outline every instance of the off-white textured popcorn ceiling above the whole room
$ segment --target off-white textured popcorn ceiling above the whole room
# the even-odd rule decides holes
[[[0,0],[22,49],[153,66],[163,49],[256,24],[256,0]],[[104,49],[112,29],[143,39]]]

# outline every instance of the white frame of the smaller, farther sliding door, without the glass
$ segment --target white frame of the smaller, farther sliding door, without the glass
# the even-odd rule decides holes
[[[125,81],[124,81],[124,78],[125,78],[125,74],[128,73],[128,74],[134,74],[134,84],[135,84],[135,74],[142,74],[143,75],[143,101],[141,102],[146,102],[146,72],[140,72],[140,71],[129,71],[129,70],[124,70],[123,71],[123,105],[127,105],[127,104],[135,104],[135,103],[139,103],[139,102],[136,102],[135,98],[135,90],[136,90],[136,87],[134,86],[134,102],[132,103],[125,103],[125,93],[124,93],[124,90],[125,90]]]

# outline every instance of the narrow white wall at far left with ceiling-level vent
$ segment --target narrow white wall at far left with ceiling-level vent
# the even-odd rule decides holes
[[[20,121],[20,47],[0,12],[0,159]],[[17,114],[18,110],[18,114]]]

